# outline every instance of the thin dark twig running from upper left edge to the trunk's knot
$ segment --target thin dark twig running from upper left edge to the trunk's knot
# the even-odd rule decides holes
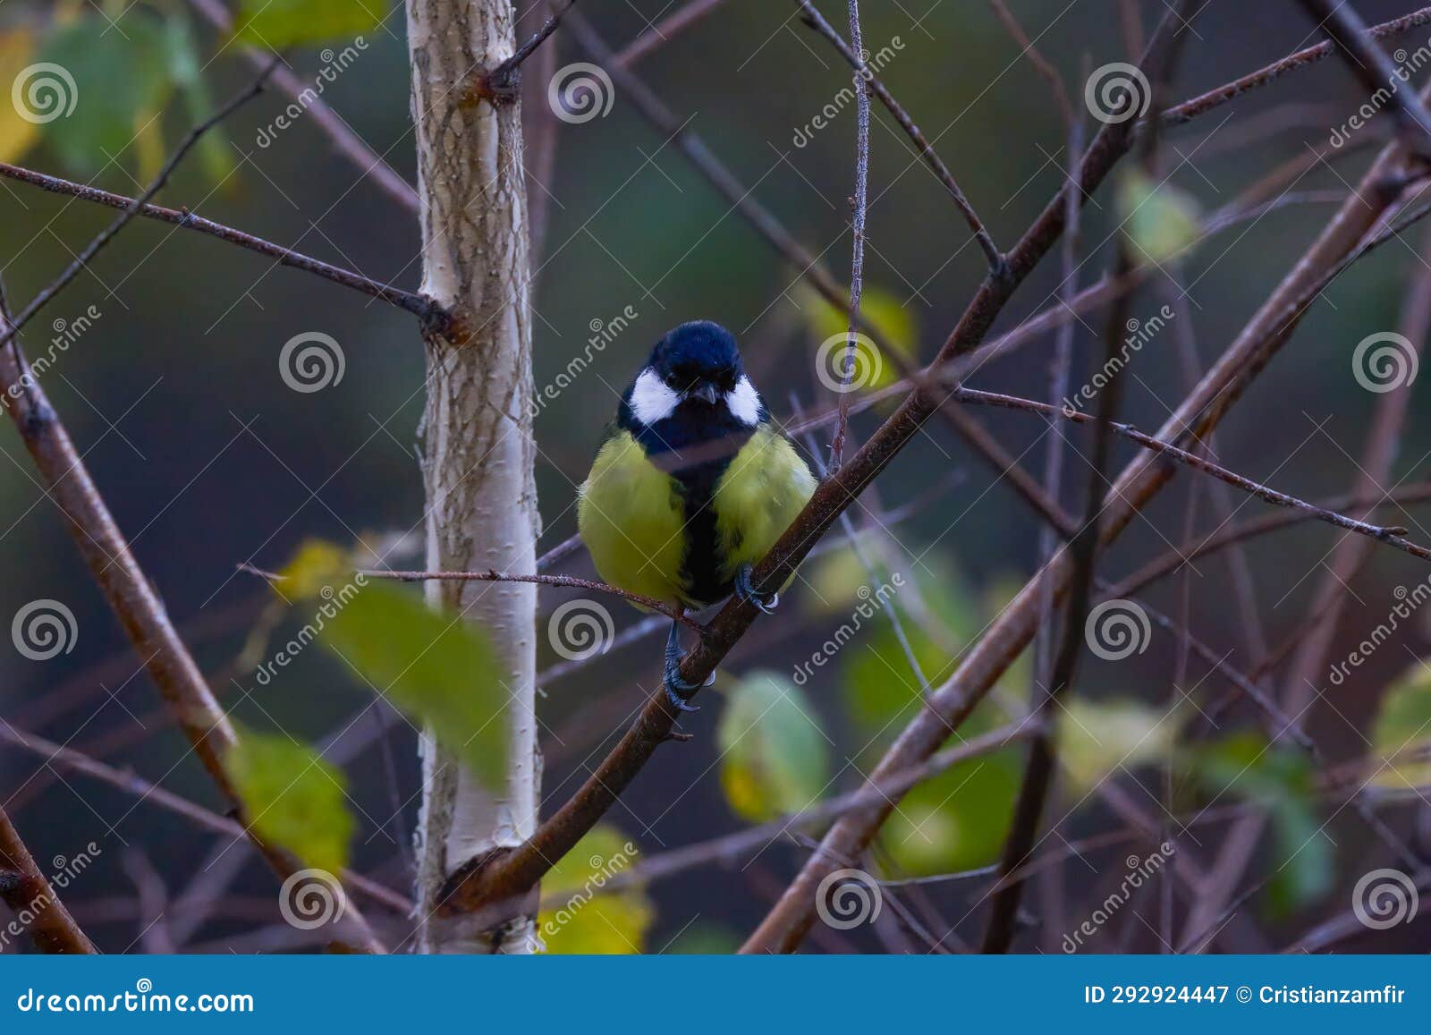
[[[33,169],[24,169],[6,162],[0,162],[0,176],[29,183],[30,186],[49,190],[50,193],[79,198],[83,202],[104,205],[112,209],[127,210],[136,200],[135,198],[110,193],[109,190],[84,186],[83,183],[74,183],[73,180],[62,179],[60,176],[50,176],[49,173],[34,172]],[[166,209],[160,205],[142,205],[137,212],[146,219],[156,219],[162,223],[170,223],[187,230],[205,233],[210,238],[218,238],[219,240],[226,240],[230,245],[238,245],[239,248],[250,252],[266,255],[268,258],[278,261],[280,266],[303,269],[309,273],[322,276],[325,281],[332,281],[333,283],[341,283],[345,288],[352,288],[363,295],[369,295],[371,298],[389,302],[399,309],[406,309],[414,314],[424,321],[425,325],[445,326],[448,324],[448,318],[442,311],[442,306],[425,295],[414,295],[412,292],[402,291],[401,288],[392,288],[386,283],[366,278],[362,273],[355,273],[319,259],[312,259],[302,252],[295,252],[290,248],[275,245],[252,233],[245,233],[243,230],[236,230],[232,226],[225,226],[223,223],[216,223],[212,219],[197,216],[189,209]]]

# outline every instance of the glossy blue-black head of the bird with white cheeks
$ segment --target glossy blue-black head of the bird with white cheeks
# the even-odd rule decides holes
[[[766,405],[740,361],[736,338],[705,319],[681,324],[651,349],[651,358],[621,399],[618,424],[638,437],[704,441],[748,431],[767,418]],[[645,435],[640,432],[650,431]]]

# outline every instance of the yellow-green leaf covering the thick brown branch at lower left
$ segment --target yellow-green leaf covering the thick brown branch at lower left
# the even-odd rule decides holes
[[[348,777],[308,744],[240,730],[223,759],[248,820],[263,840],[329,873],[348,865],[355,822]]]

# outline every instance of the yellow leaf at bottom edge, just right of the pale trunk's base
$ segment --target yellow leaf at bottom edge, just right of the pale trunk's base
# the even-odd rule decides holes
[[[655,909],[640,885],[605,885],[637,860],[635,845],[614,826],[594,826],[542,879],[537,918],[545,952],[628,955],[641,952]],[[551,905],[555,900],[555,905]]]

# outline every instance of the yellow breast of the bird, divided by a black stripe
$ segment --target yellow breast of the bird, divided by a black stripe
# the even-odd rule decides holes
[[[658,470],[641,444],[618,431],[597,452],[581,487],[577,524],[601,577],[628,593],[678,607],[693,600],[684,574],[688,550],[717,554],[724,580],[758,561],[814,492],[814,477],[794,447],[760,427],[730,458],[707,500],[690,500],[677,477]],[[695,541],[691,507],[714,511],[714,541]]]

